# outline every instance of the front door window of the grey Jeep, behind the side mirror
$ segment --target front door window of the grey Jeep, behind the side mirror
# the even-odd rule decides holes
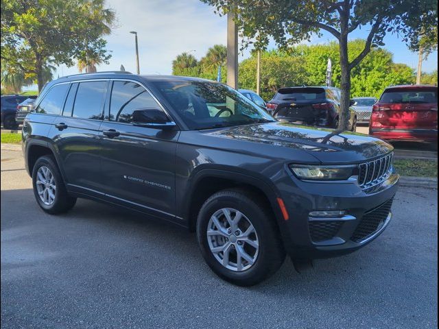
[[[135,82],[115,81],[112,85],[110,114],[106,120],[132,122],[132,113],[139,109],[158,109],[158,103],[143,86]]]

